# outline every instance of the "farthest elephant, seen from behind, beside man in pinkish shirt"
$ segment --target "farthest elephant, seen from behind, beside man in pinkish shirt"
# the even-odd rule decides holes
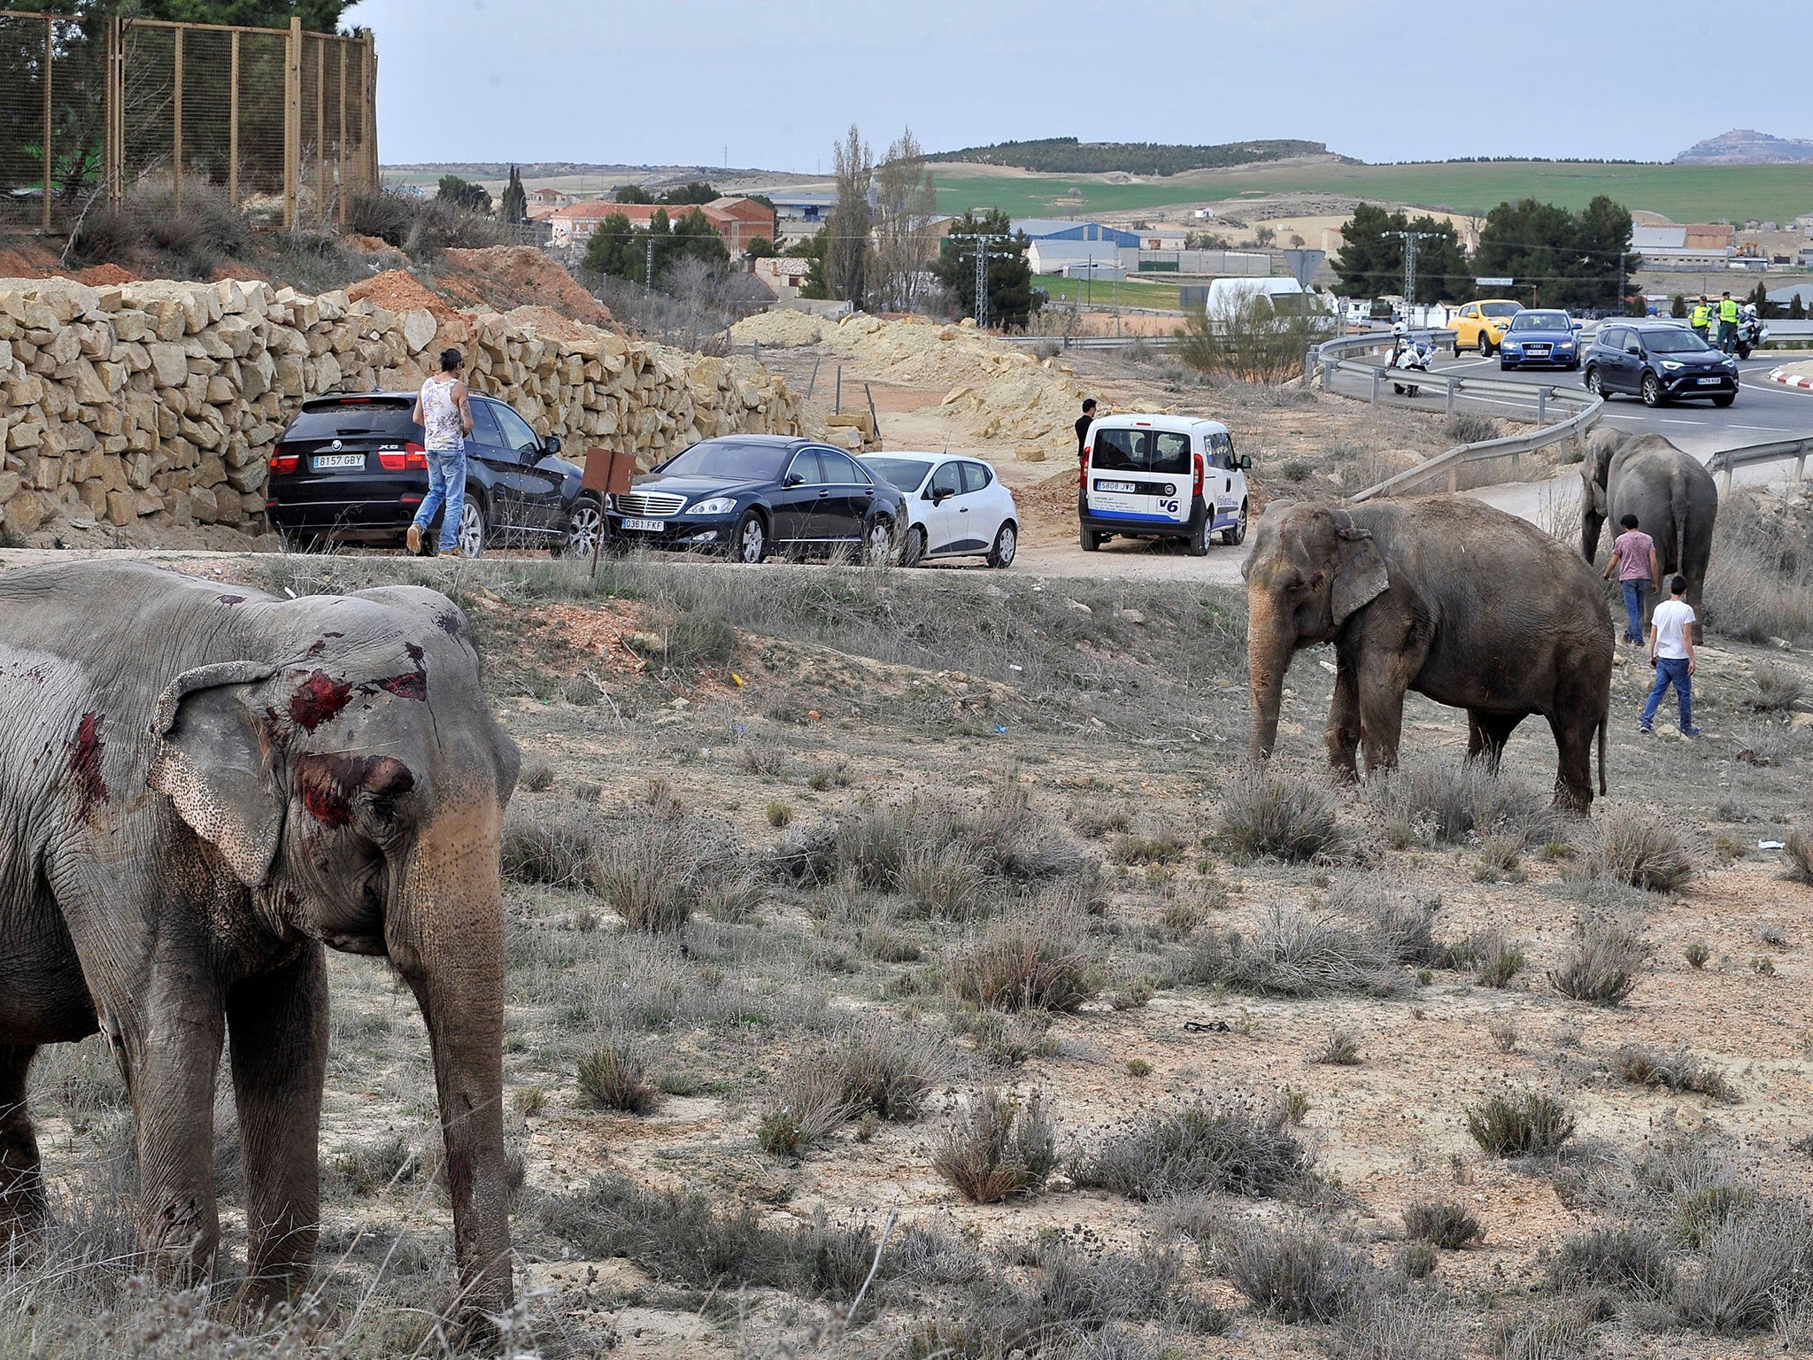
[[[1693,617],[1704,622],[1706,566],[1711,562],[1711,529],[1719,519],[1719,484],[1711,473],[1699,459],[1661,435],[1619,439],[1597,432],[1588,455],[1581,464],[1581,553],[1592,562],[1599,555],[1605,522],[1617,526],[1624,515],[1635,515],[1637,528],[1655,540],[1663,589],[1677,571],[1686,577],[1688,604]],[[1644,635],[1657,602],[1653,591],[1644,598]],[[1695,642],[1701,633],[1702,624],[1695,624]]]

